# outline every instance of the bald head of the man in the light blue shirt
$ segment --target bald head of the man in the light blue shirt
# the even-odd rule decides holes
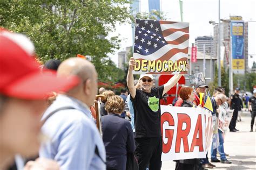
[[[69,58],[60,64],[57,75],[66,77],[71,75],[78,76],[81,79],[80,84],[67,94],[89,106],[93,104],[98,90],[98,75],[90,61],[81,58]]]

